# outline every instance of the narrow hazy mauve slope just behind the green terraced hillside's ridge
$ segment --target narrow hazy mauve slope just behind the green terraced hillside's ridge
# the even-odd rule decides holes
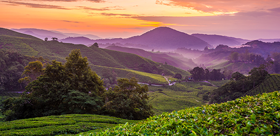
[[[160,62],[160,63],[167,62],[169,65],[172,65],[174,67],[178,67],[178,68],[181,68],[184,70],[188,70],[190,68],[194,68],[197,66],[191,59],[185,58],[185,60],[182,60],[180,58],[172,57],[165,53],[152,53],[152,52],[144,51],[142,49],[126,48],[126,47],[119,47],[119,46],[109,46],[105,49],[126,52],[126,53],[131,53],[131,54],[137,54],[137,55],[151,59],[156,62]]]

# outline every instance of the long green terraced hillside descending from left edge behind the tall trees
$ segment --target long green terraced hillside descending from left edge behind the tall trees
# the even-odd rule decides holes
[[[5,35],[7,33],[8,35]],[[17,37],[13,35],[16,35]],[[161,63],[154,62],[136,54],[101,49],[93,46],[87,47],[81,44],[75,45],[70,43],[61,43],[58,41],[43,41],[30,35],[28,36],[26,34],[4,28],[0,31],[0,48],[6,50],[18,50],[21,54],[29,56],[42,56],[50,60],[56,59],[60,62],[65,62],[65,57],[68,56],[73,49],[80,49],[82,55],[87,57],[88,63],[91,67],[103,66],[136,70],[153,74],[165,73],[170,76],[173,76],[176,71],[182,72],[182,75],[189,74],[188,72],[173,66],[161,66]],[[93,71],[95,70],[93,69]]]

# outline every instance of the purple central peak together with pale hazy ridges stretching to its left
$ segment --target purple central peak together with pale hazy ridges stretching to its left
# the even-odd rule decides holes
[[[41,39],[48,37],[49,39],[52,37],[56,37],[60,39],[64,43],[73,43],[73,44],[84,44],[90,45],[95,42],[99,44],[116,44],[120,43],[123,47],[134,47],[134,48],[142,48],[142,49],[156,49],[156,50],[175,50],[177,48],[192,48],[202,50],[206,46],[211,45],[207,44],[205,41],[189,35],[184,32],[177,31],[175,29],[169,27],[157,27],[153,30],[145,32],[140,36],[133,36],[127,39],[122,38],[113,38],[113,39],[97,39],[98,37],[94,38],[96,40],[92,40],[90,38],[86,38],[86,35],[78,35],[70,33],[57,33],[56,31],[48,31],[48,30],[39,30],[39,29],[13,29],[19,32],[26,32],[33,36],[37,36]],[[77,37],[79,36],[79,37]],[[91,35],[92,36],[92,35]],[[99,37],[100,38],[100,37]],[[149,48],[147,48],[149,47]]]

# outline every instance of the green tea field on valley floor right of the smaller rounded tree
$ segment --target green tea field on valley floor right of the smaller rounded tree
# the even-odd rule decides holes
[[[205,105],[203,94],[217,88],[208,82],[176,82],[174,85],[148,85],[149,103],[156,114]],[[163,102],[164,101],[164,102]]]

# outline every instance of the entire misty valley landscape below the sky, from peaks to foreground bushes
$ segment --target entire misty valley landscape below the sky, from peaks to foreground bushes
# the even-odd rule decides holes
[[[280,39],[0,28],[0,136],[279,136]]]

